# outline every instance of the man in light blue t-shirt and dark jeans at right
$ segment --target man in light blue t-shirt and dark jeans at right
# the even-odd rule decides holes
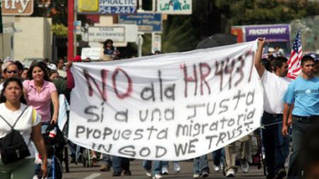
[[[315,60],[306,55],[301,60],[302,74],[291,82],[284,96],[284,124],[282,133],[288,135],[287,119],[293,109],[293,154],[290,156],[288,179],[300,179],[302,166],[297,160],[303,133],[319,122],[319,79],[314,76]]]

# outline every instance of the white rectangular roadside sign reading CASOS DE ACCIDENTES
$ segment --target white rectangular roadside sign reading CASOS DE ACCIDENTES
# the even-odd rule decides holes
[[[124,26],[89,27],[89,42],[104,42],[112,39],[113,42],[125,42]]]

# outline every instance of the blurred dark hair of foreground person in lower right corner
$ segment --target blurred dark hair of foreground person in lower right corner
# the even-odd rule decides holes
[[[312,125],[304,131],[297,159],[298,165],[305,170],[307,175],[307,171],[319,163],[319,125]]]

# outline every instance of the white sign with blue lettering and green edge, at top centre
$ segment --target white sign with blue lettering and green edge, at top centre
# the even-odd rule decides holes
[[[192,0],[157,0],[157,11],[165,14],[191,14]]]

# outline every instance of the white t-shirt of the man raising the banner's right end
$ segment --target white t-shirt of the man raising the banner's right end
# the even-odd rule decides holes
[[[282,114],[284,112],[283,97],[292,81],[287,77],[278,77],[274,73],[265,70],[261,81],[264,85],[264,110],[272,114]]]

